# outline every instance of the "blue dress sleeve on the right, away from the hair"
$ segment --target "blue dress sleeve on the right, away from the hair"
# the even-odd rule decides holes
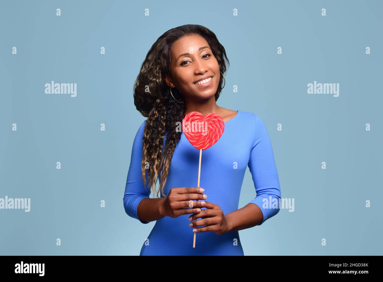
[[[264,122],[257,115],[255,115],[254,144],[250,151],[248,166],[257,193],[250,203],[254,203],[262,211],[263,221],[259,224],[261,225],[278,213],[281,191],[270,137]]]

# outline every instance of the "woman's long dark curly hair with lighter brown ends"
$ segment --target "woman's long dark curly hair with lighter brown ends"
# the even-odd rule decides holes
[[[159,191],[161,190],[163,196],[165,196],[164,185],[170,161],[182,133],[177,132],[176,123],[177,121],[182,122],[186,112],[182,95],[179,91],[173,90],[172,94],[175,99],[183,101],[183,103],[175,101],[164,78],[166,75],[170,75],[172,43],[189,34],[199,34],[205,38],[218,61],[219,71],[224,74],[226,62],[229,65],[229,59],[213,31],[201,25],[182,25],[166,31],[155,41],[141,64],[133,87],[134,105],[141,115],[147,117],[142,138],[141,178],[146,187],[146,177],[148,177],[147,185],[151,187],[153,194],[155,194],[157,180],[160,179]],[[220,75],[215,93],[216,101],[221,93],[222,83],[223,77]]]

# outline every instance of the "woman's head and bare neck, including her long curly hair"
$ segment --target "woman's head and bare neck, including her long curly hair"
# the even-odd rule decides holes
[[[159,191],[164,196],[170,161],[181,138],[181,133],[176,131],[177,121],[182,121],[191,111],[203,115],[214,112],[224,120],[236,113],[216,105],[226,63],[229,60],[224,47],[211,30],[201,25],[178,26],[166,31],[147,53],[134,86],[134,105],[147,117],[141,176],[145,185],[144,165],[148,162],[148,185],[153,193],[161,171]],[[208,77],[210,82],[199,82]],[[168,141],[163,145],[165,131]]]

